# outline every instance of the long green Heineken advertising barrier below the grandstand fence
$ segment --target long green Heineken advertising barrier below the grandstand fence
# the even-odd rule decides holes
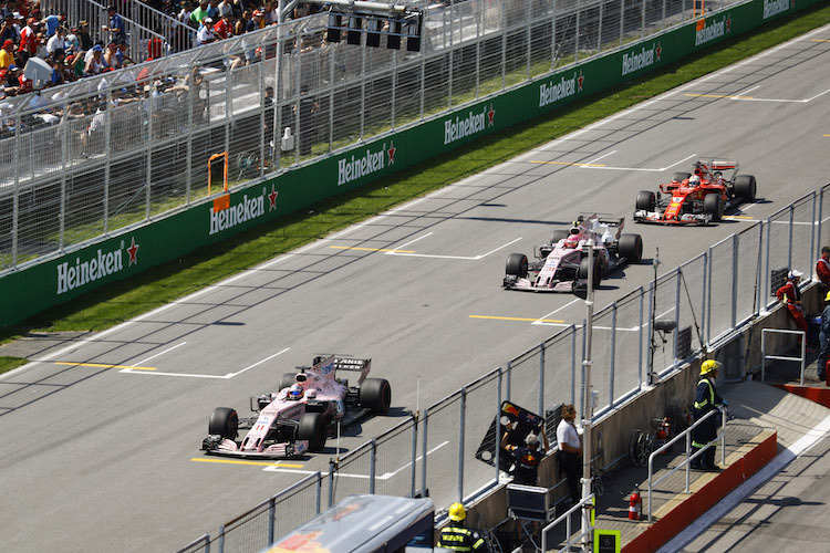
[[[0,278],[0,326],[561,108],[826,0],[753,0]],[[175,237],[175,239],[172,239]]]

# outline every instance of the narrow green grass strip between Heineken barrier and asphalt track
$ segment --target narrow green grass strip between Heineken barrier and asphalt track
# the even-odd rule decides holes
[[[0,342],[31,330],[105,330],[827,23],[830,23],[828,6],[782,18],[754,34],[725,41],[706,55],[670,65],[661,74],[645,75],[642,81],[625,83],[546,117],[516,125],[498,136],[481,138],[418,168],[330,199],[314,206],[311,213],[297,213],[263,225],[133,279],[90,292],[23,325],[6,328],[0,333]]]

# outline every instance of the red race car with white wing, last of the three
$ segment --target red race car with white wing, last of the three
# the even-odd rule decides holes
[[[730,170],[728,177],[724,171]],[[634,221],[662,225],[708,225],[726,209],[755,200],[755,177],[738,175],[737,161],[702,159],[694,173],[675,173],[654,195],[637,194]],[[665,195],[665,196],[664,196]]]

